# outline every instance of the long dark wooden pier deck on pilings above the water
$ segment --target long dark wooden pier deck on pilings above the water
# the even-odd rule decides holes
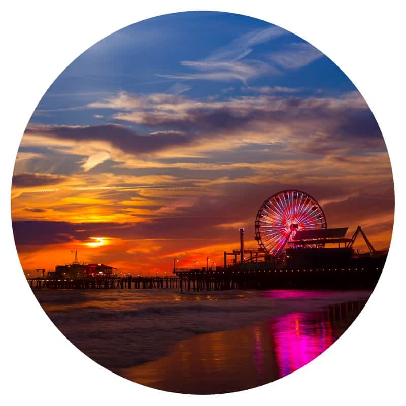
[[[231,289],[371,289],[382,267],[312,269],[222,269],[175,271],[171,277],[33,278],[32,289],[178,289],[202,292]]]

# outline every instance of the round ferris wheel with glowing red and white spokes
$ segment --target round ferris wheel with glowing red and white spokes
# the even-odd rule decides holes
[[[281,255],[297,231],[327,228],[316,199],[300,190],[283,190],[266,199],[255,220],[255,239],[271,255]]]

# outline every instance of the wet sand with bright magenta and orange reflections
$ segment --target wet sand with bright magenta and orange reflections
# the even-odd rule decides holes
[[[312,361],[337,340],[365,300],[294,312],[256,326],[199,335],[156,361],[118,373],[153,388],[194,394],[239,391],[272,382]]]

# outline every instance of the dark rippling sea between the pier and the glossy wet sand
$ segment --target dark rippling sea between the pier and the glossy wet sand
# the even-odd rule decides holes
[[[367,300],[371,294],[369,290],[58,292],[36,295],[48,317],[79,350],[116,373],[159,360],[183,340],[252,327],[288,313]]]

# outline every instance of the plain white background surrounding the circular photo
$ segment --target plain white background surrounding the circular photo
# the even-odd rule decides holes
[[[262,3],[262,4],[261,4]],[[403,309],[406,195],[404,12],[400,1],[14,1],[1,12],[2,169],[0,279],[3,404],[405,404]],[[288,377],[244,391],[188,396],[149,389],[100,367],[54,327],[24,281],[10,219],[14,160],[24,128],[58,74],[96,41],[176,11],[246,14],[294,32],[329,56],[374,112],[390,154],[396,213],[381,280],[361,315],[329,350]],[[403,258],[403,261],[402,261]]]

